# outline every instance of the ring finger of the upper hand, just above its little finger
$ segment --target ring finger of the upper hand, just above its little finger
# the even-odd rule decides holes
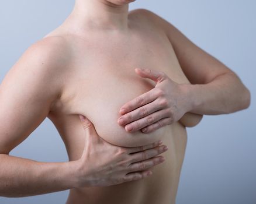
[[[169,112],[167,110],[156,111],[153,112],[153,114],[147,115],[144,118],[131,122],[130,124],[125,126],[125,129],[127,132],[136,132],[141,128],[154,124],[155,122],[160,121],[162,118],[167,117],[169,117]]]

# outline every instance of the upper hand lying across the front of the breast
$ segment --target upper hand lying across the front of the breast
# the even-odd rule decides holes
[[[178,121],[191,108],[182,85],[169,79],[164,72],[152,69],[135,69],[143,78],[156,82],[154,89],[136,97],[120,108],[119,125],[127,132],[150,133],[162,126]]]

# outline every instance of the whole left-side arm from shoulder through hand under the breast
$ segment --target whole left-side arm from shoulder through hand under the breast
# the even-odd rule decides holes
[[[82,122],[85,149],[78,160],[46,163],[9,156],[61,96],[65,81],[61,73],[70,59],[64,44],[60,38],[47,38],[32,45],[0,86],[0,196],[33,196],[136,181],[150,176],[150,168],[164,161],[158,156],[167,150],[161,143],[114,146],[97,135],[88,119]]]

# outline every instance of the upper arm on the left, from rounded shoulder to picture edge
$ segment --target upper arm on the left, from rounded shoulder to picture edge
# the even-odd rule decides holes
[[[41,40],[24,52],[0,85],[0,153],[27,138],[49,114],[61,92],[56,40]]]

